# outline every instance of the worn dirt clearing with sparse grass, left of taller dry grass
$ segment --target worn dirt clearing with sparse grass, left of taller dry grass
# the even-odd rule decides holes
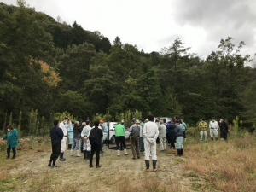
[[[71,157],[69,152],[66,162],[57,162],[60,167],[49,168],[49,145],[43,150],[20,151],[16,160],[3,160],[2,172],[9,177],[0,183],[0,189],[33,192],[198,191],[195,183],[202,182],[183,170],[183,162],[188,159],[177,157],[176,151],[158,152],[158,172],[145,172],[143,156],[140,160],[132,160],[131,150],[128,150],[128,156],[117,157],[114,150],[105,148],[100,169],[89,168],[82,157]]]

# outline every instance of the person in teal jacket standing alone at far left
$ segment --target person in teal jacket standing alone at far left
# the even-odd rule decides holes
[[[19,136],[18,131],[14,129],[12,125],[8,125],[7,127],[7,136],[4,137],[7,140],[7,158],[10,158],[10,151],[13,151],[12,159],[16,157],[16,148],[18,147],[19,143]]]

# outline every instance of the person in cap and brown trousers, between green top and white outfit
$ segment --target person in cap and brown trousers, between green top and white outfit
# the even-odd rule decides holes
[[[139,151],[139,142],[140,142],[140,131],[142,127],[140,125],[139,120],[135,120],[134,125],[131,125],[130,131],[130,141],[131,141],[131,151],[133,155],[133,160],[140,159],[140,151]]]

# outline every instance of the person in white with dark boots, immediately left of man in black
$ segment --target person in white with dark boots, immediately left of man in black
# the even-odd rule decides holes
[[[89,135],[90,135],[90,120],[87,120],[85,122],[85,126],[83,131],[81,132],[81,137],[84,140],[84,146],[83,146],[83,153],[84,153],[84,160],[87,160],[90,158],[90,151],[91,151],[91,146],[90,146],[90,141],[89,141]]]

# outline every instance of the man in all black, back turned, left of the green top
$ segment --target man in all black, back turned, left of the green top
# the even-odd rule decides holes
[[[93,167],[93,155],[96,153],[96,168],[100,168],[100,151],[102,145],[103,132],[99,127],[99,121],[94,122],[94,128],[90,130],[89,140],[91,145],[90,168]]]

